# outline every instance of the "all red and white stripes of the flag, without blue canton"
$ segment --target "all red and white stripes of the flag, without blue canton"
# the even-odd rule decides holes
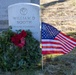
[[[67,54],[76,46],[76,40],[59,33],[54,40],[42,39],[42,54]]]

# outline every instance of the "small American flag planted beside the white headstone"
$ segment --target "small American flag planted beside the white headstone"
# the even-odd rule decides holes
[[[41,44],[42,54],[67,54],[76,46],[76,40],[42,22]]]

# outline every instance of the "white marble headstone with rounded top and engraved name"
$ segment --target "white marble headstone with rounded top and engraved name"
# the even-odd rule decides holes
[[[17,3],[8,7],[9,26],[12,30],[30,30],[40,41],[40,7],[33,3]]]

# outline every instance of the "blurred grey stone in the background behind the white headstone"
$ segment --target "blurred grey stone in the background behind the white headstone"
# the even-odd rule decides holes
[[[20,2],[30,3],[31,0],[0,0],[0,31],[8,28],[8,6]]]

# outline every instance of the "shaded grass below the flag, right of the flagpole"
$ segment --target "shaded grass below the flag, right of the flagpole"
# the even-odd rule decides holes
[[[46,59],[44,75],[76,75],[76,48],[73,51]]]

